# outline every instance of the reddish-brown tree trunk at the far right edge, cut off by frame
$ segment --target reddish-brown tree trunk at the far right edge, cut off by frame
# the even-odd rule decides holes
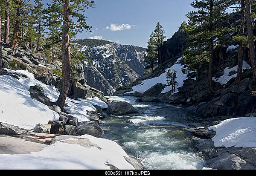
[[[254,46],[254,38],[253,38],[253,23],[251,19],[251,7],[250,0],[245,0],[246,5],[246,19],[247,19],[247,31],[248,31],[248,39],[249,39],[249,47],[250,47],[250,60],[251,66],[253,69],[253,82],[256,83],[256,61],[255,61],[255,46]]]

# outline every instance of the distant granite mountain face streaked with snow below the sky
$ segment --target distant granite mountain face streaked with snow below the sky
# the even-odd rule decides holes
[[[120,45],[106,40],[76,40],[90,61],[83,61],[87,85],[113,95],[119,86],[136,81],[145,72],[145,48]]]

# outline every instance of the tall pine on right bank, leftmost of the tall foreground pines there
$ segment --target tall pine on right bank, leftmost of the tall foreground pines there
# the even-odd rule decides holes
[[[222,26],[222,21],[226,10],[230,7],[233,0],[195,0],[191,4],[198,11],[189,12],[186,16],[189,18],[189,24],[198,26],[198,32],[202,35],[202,40],[207,42],[209,51],[208,84],[209,91],[214,92],[212,86],[212,66],[214,59],[214,40],[223,36],[227,31]]]

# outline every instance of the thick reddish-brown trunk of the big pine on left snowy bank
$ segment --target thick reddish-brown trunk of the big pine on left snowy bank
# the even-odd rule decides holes
[[[69,21],[70,21],[70,0],[64,1],[64,21],[62,29],[62,86],[58,100],[53,103],[63,110],[70,86],[70,46],[69,46]]]

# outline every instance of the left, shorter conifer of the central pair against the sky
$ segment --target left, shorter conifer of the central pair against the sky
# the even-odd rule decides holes
[[[154,66],[157,65],[157,47],[156,41],[154,40],[154,33],[151,32],[150,38],[147,45],[147,55],[145,56],[144,62],[147,64],[145,69],[151,68],[151,72],[154,71]]]

